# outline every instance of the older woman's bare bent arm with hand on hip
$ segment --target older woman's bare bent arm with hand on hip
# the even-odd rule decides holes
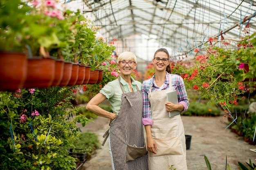
[[[98,116],[106,117],[111,120],[114,120],[117,115],[115,113],[108,112],[107,110],[104,110],[100,108],[98,105],[101,104],[106,99],[106,96],[102,93],[98,93],[95,95],[86,105],[86,109],[90,110],[91,112],[95,113]]]

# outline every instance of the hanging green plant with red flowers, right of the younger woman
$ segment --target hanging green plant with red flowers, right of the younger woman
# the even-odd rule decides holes
[[[247,74],[243,63],[250,62],[252,46],[245,38],[241,42],[245,48],[232,49],[230,42],[222,42],[222,46],[210,45],[205,55],[196,57],[196,66],[191,75],[186,75],[185,83],[213,102],[227,110],[238,104],[239,95],[246,91]],[[209,39],[210,44],[214,40]],[[238,44],[238,47],[241,47]]]

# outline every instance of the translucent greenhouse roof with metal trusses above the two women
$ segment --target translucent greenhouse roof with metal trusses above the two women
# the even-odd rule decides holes
[[[200,49],[212,37],[239,40],[256,31],[253,0],[73,1],[108,40],[144,35],[178,54]]]

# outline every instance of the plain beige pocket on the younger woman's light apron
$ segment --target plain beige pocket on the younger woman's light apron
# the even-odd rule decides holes
[[[162,155],[182,155],[180,137],[153,138],[157,145],[157,154],[148,152],[149,157]]]

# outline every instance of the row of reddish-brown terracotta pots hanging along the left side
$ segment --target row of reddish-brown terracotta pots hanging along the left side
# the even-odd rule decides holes
[[[0,52],[0,91],[100,83],[103,71],[53,58]]]

